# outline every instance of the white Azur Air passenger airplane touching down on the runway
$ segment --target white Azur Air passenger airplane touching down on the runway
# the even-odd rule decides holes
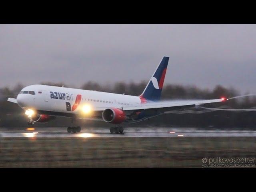
[[[111,134],[123,134],[122,123],[148,120],[171,110],[183,110],[198,105],[223,102],[228,99],[179,100],[159,102],[169,57],[163,57],[139,96],[81,90],[48,85],[30,85],[23,88],[17,98],[8,98],[25,110],[28,125],[45,123],[57,116],[76,119],[101,120],[116,126]],[[80,126],[68,127],[69,133],[81,131]]]

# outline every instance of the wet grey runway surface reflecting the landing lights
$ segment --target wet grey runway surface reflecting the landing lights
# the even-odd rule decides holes
[[[68,133],[66,128],[0,128],[0,138],[108,138],[108,137],[256,137],[248,130],[197,130],[196,128],[125,128],[124,134],[110,134],[109,128],[82,128]]]

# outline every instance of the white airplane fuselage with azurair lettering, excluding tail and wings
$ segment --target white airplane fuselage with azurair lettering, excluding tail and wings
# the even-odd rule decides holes
[[[81,95],[80,98],[78,95]],[[138,106],[141,103],[138,96],[47,85],[27,86],[17,96],[17,102],[23,109],[70,114],[80,113],[79,107],[72,107],[76,105],[77,99],[80,99],[79,107],[90,105],[92,110]],[[70,108],[66,103],[70,103]]]

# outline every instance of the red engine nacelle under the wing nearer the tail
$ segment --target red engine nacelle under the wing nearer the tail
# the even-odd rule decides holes
[[[102,118],[107,123],[120,124],[127,119],[124,111],[117,108],[105,109],[102,112]]]

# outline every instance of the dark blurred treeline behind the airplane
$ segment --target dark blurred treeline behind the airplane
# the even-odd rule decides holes
[[[138,96],[146,87],[147,82],[117,82],[112,85],[101,85],[97,82],[86,82],[80,87],[71,87],[66,84],[52,82],[42,82],[41,84]],[[17,94],[23,87],[24,85],[17,84],[13,88],[0,88],[0,126],[26,126],[26,117],[24,116],[24,111],[20,109],[16,104],[12,104],[6,101],[8,97],[16,98]],[[162,91],[162,100],[215,99],[221,98],[223,96],[226,98],[232,98],[238,95],[241,95],[238,90],[235,90],[234,88],[225,88],[221,85],[217,85],[214,89],[202,89],[196,86],[165,84]],[[222,104],[225,104],[225,106],[229,108],[252,108],[256,106],[256,96],[232,99],[229,102],[211,104],[207,106],[219,107]],[[84,124],[84,126],[108,126],[104,122],[82,121],[81,123]],[[70,124],[70,119],[57,118],[53,122],[49,122],[47,124],[40,124],[37,126],[67,126],[67,124]],[[227,111],[215,111],[202,114],[164,114],[157,118],[152,118],[149,121],[129,124],[128,126],[175,126],[201,128],[242,127],[254,129],[254,127],[256,126],[256,112],[237,113]]]

